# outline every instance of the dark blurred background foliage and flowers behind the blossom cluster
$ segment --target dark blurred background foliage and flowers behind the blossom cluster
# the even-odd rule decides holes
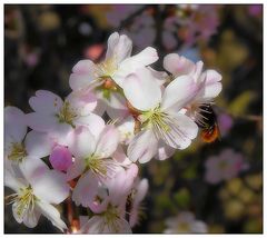
[[[134,53],[155,47],[158,70],[177,52],[222,75],[214,107],[220,139],[197,138],[166,161],[140,166],[150,187],[134,232],[160,234],[182,211],[208,232],[263,232],[263,6],[6,4],[6,106],[29,112],[38,89],[66,97],[73,65],[101,59],[113,31],[132,39]],[[6,205],[4,232],[58,230],[44,218],[28,229]]]

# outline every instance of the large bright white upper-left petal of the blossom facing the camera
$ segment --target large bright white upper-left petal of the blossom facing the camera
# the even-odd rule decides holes
[[[142,111],[154,109],[161,100],[160,87],[146,68],[128,76],[123,81],[122,89],[132,107]]]

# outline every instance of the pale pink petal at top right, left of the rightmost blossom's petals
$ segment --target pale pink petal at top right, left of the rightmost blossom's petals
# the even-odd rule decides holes
[[[178,77],[190,73],[195,69],[195,63],[177,53],[169,53],[164,58],[164,68]]]

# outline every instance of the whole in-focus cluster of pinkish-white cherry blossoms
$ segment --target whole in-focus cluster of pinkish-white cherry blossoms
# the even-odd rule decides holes
[[[148,191],[138,166],[166,160],[197,137],[220,73],[177,53],[157,71],[156,49],[131,51],[132,41],[115,32],[101,62],[73,67],[65,99],[38,90],[32,112],[6,107],[4,185],[14,190],[7,201],[18,222],[32,228],[43,215],[66,231],[56,206],[70,198],[91,214],[80,216],[77,232],[131,232]]]

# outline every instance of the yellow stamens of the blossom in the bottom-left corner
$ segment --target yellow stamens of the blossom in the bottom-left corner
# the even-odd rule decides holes
[[[33,211],[37,197],[30,186],[20,188],[18,194],[12,194],[6,199],[10,199],[8,204],[14,204],[14,211],[19,218],[23,218],[28,211]]]

